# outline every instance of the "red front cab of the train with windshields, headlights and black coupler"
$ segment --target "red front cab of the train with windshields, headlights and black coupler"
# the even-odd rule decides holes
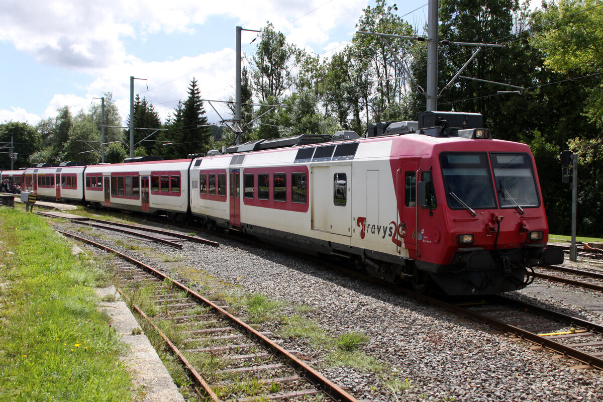
[[[409,210],[416,218],[405,214],[414,221],[406,229],[412,230],[406,247],[416,257],[414,281],[433,280],[455,295],[522,289],[533,278],[531,266],[563,262],[561,250],[546,247],[548,224],[531,152],[496,140],[476,151],[461,149],[470,148],[447,145],[426,161],[429,166],[405,177],[406,192],[414,184],[409,181],[416,183]]]

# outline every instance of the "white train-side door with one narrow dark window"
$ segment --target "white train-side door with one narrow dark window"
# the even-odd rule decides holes
[[[352,236],[352,166],[331,166],[329,180],[329,231]]]

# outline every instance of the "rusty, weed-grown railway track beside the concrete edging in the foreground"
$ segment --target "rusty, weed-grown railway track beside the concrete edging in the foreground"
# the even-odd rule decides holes
[[[90,247],[118,256],[118,291],[164,339],[188,370],[197,388],[214,402],[236,400],[324,400],[356,402],[339,386],[280,347],[268,333],[255,330],[182,283],[151,266],[104,245],[58,231]],[[136,306],[137,295],[152,300]],[[168,328],[174,337],[168,337]]]

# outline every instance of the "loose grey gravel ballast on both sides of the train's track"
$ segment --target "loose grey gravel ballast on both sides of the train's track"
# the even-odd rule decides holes
[[[358,400],[603,400],[603,373],[572,368],[579,364],[574,360],[549,351],[531,350],[527,342],[514,341],[485,325],[394,295],[383,287],[344,277],[307,260],[207,234],[204,237],[220,242],[220,247],[187,243],[180,251],[164,246],[153,248],[155,252],[180,256],[180,263],[188,270],[207,272],[225,283],[222,286],[227,291],[239,292],[241,297],[264,293],[285,301],[290,314],[294,314],[295,306],[311,306],[313,309],[306,315],[330,336],[366,334],[370,341],[361,350],[382,364],[384,369],[380,372],[332,367],[325,361],[326,351],[309,342],[297,338],[283,342],[283,347],[297,350],[309,359],[310,365]],[[186,275],[175,276],[187,280]],[[558,288],[567,292],[567,288]],[[603,322],[600,311],[584,311],[584,307],[550,297],[538,299],[529,292],[510,295]],[[603,306],[603,299],[594,298],[599,307]],[[278,330],[274,322],[261,328]],[[387,386],[391,378],[411,386],[395,392]]]

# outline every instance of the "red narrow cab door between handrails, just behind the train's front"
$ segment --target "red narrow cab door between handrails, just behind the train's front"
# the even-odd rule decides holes
[[[417,162],[402,163],[402,169],[398,171],[398,211],[400,222],[398,225],[398,237],[401,240],[400,248],[417,252],[417,242],[423,234],[420,233],[417,215],[417,177],[419,174]],[[399,250],[400,251],[400,250]]]

